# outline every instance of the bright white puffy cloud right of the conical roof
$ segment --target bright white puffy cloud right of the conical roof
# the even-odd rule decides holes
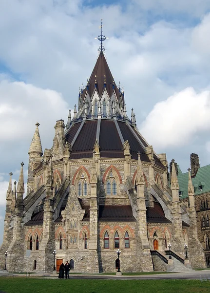
[[[196,93],[192,87],[158,102],[140,126],[140,132],[162,149],[180,149],[205,130],[210,130],[210,91]]]

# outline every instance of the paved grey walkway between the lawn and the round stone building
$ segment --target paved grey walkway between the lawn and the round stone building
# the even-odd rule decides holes
[[[0,271],[0,277],[13,276],[12,273],[5,271]],[[21,276],[25,277],[25,274],[15,274],[15,277]],[[44,276],[41,273],[34,273],[30,275],[30,278],[33,277],[44,277],[44,278],[57,278],[57,274],[44,273]],[[29,277],[29,276],[28,276]],[[106,275],[106,274],[70,274],[70,279],[107,279],[107,280],[150,280],[150,279],[208,279],[210,280],[210,270],[203,271],[191,271],[191,272],[177,272],[177,273],[163,273],[163,274],[147,274],[147,275]]]

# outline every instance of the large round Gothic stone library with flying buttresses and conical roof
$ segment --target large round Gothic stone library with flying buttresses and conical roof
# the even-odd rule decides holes
[[[139,133],[133,109],[128,117],[102,46],[73,117],[69,111],[66,126],[57,120],[52,147],[44,152],[38,127],[28,152],[26,192],[24,164],[17,189],[10,173],[1,268],[8,251],[9,271],[14,264],[24,271],[28,262],[36,272],[51,272],[56,250],[57,269],[68,260],[75,272],[114,272],[118,248],[123,272],[166,271],[177,259],[192,268],[206,266],[191,176],[186,208],[174,160],[170,186],[166,154],[156,154]]]

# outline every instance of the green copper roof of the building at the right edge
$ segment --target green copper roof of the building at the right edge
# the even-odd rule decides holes
[[[188,172],[177,176],[179,182],[179,191],[182,191],[181,199],[188,197]],[[192,178],[195,195],[210,192],[210,165],[200,167],[197,174]],[[202,190],[199,189],[202,186]]]

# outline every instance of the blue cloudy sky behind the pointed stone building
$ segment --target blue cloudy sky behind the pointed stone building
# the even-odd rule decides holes
[[[100,20],[127,114],[156,153],[183,172],[210,164],[209,0],[0,1],[0,243],[9,172],[18,181],[40,123],[51,148],[97,57]]]

